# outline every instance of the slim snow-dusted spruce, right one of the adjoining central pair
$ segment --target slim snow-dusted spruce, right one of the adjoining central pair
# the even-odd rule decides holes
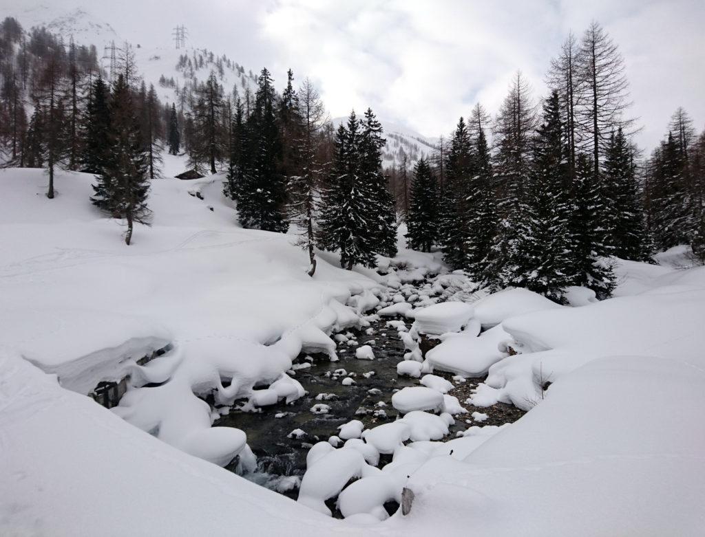
[[[367,194],[367,219],[370,222],[374,251],[387,257],[397,254],[396,203],[382,173],[382,126],[371,108],[367,108],[360,123],[360,185]]]

